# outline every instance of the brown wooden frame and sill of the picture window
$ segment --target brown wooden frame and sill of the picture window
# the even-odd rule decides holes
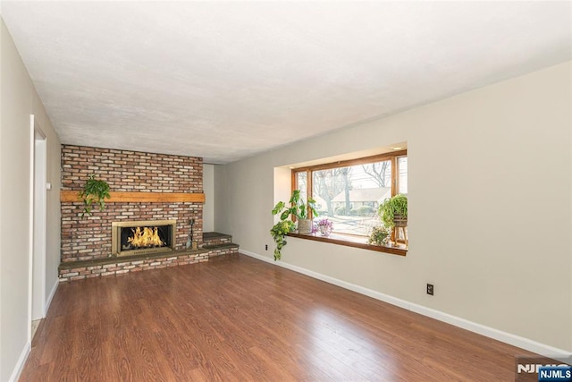
[[[313,191],[313,172],[320,170],[329,170],[332,168],[347,167],[347,166],[357,166],[357,165],[367,165],[375,162],[390,161],[391,162],[391,196],[397,195],[400,190],[400,169],[399,169],[399,158],[407,157],[408,150],[401,149],[396,151],[391,151],[383,154],[377,154],[370,157],[358,157],[355,159],[341,160],[336,162],[329,162],[314,166],[300,166],[296,168],[291,168],[291,191],[298,189],[298,174],[306,173],[306,195],[307,197],[312,196]],[[310,218],[314,216],[310,213]],[[394,240],[395,230],[391,230],[391,240]],[[328,237],[315,236],[312,233],[302,234],[302,233],[290,233],[292,237],[298,237],[300,239],[313,240],[317,242],[331,242],[333,244],[346,245],[349,247],[363,248],[367,250],[376,250],[385,253],[391,253],[395,255],[405,256],[407,254],[408,248],[402,247],[388,247],[383,245],[372,245],[363,242],[356,242],[355,240],[350,240],[351,236],[358,236],[360,238],[366,237],[361,235],[350,235],[346,233],[332,234]],[[344,239],[346,236],[346,239]],[[403,242],[403,241],[400,241]]]

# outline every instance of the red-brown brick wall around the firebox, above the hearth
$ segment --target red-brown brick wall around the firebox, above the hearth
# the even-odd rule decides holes
[[[128,150],[62,146],[62,190],[80,191],[89,174],[111,191],[203,192],[203,160]],[[114,221],[176,219],[175,250],[182,250],[195,219],[193,239],[202,242],[203,205],[190,202],[107,202],[105,211],[81,217],[82,202],[62,202],[62,261],[101,259],[111,253]]]

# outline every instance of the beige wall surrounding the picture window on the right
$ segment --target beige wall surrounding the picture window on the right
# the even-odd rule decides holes
[[[559,64],[224,166],[224,229],[272,258],[274,167],[407,141],[407,257],[290,238],[283,262],[572,352],[571,72]]]

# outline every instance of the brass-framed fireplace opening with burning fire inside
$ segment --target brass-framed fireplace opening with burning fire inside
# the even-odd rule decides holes
[[[113,253],[119,256],[174,249],[176,220],[112,223]]]

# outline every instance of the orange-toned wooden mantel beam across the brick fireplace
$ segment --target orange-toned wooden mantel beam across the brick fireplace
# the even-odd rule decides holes
[[[141,202],[141,203],[204,203],[204,193],[187,192],[109,192],[111,199],[105,199],[105,203],[114,202]],[[61,201],[81,201],[80,191],[60,191]]]

